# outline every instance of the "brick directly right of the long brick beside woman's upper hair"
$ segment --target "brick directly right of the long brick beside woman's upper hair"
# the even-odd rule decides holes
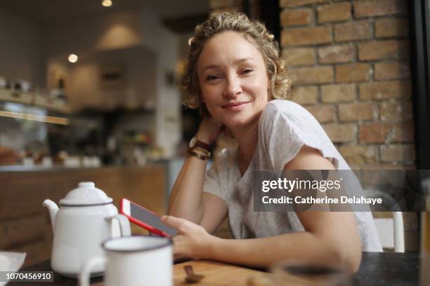
[[[334,40],[341,41],[356,41],[370,39],[372,37],[372,27],[370,22],[346,22],[334,26]]]

